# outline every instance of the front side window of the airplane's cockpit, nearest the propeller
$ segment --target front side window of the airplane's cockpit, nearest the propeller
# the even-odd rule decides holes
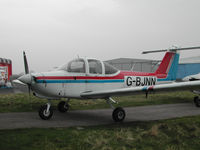
[[[82,59],[77,59],[69,62],[67,66],[68,72],[85,73],[85,62]]]

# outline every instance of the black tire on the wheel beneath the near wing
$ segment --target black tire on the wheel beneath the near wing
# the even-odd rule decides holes
[[[126,113],[123,108],[117,107],[113,110],[112,117],[115,122],[122,122],[126,117]]]

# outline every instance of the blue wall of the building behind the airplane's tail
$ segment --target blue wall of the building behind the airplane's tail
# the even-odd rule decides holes
[[[176,79],[182,79],[186,76],[198,73],[200,73],[200,63],[179,64]]]

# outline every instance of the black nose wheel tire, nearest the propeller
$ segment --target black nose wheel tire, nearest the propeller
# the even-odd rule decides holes
[[[49,120],[53,115],[53,110],[51,107],[49,108],[48,113],[46,112],[46,110],[47,110],[47,105],[42,105],[38,111],[40,118],[43,120]]]

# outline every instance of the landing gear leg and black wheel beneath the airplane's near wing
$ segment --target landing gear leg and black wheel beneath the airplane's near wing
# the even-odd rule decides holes
[[[126,117],[126,113],[125,113],[124,109],[122,107],[115,108],[111,104],[111,102],[113,102],[113,103],[117,103],[117,102],[114,101],[111,97],[107,98],[106,101],[110,105],[110,107],[113,109],[113,113],[112,113],[113,120],[115,122],[122,122]]]

